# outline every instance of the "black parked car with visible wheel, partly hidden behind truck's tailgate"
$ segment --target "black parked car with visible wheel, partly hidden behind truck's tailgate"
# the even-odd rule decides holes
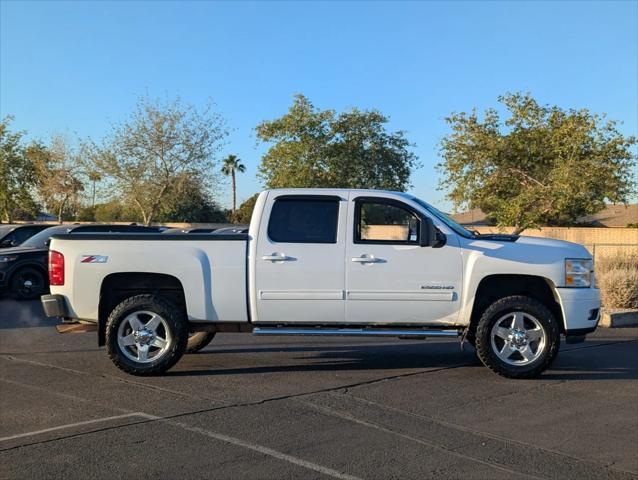
[[[60,233],[157,233],[139,225],[47,225],[21,245],[0,250],[0,293],[21,300],[37,298],[48,289],[47,252],[51,235]]]

